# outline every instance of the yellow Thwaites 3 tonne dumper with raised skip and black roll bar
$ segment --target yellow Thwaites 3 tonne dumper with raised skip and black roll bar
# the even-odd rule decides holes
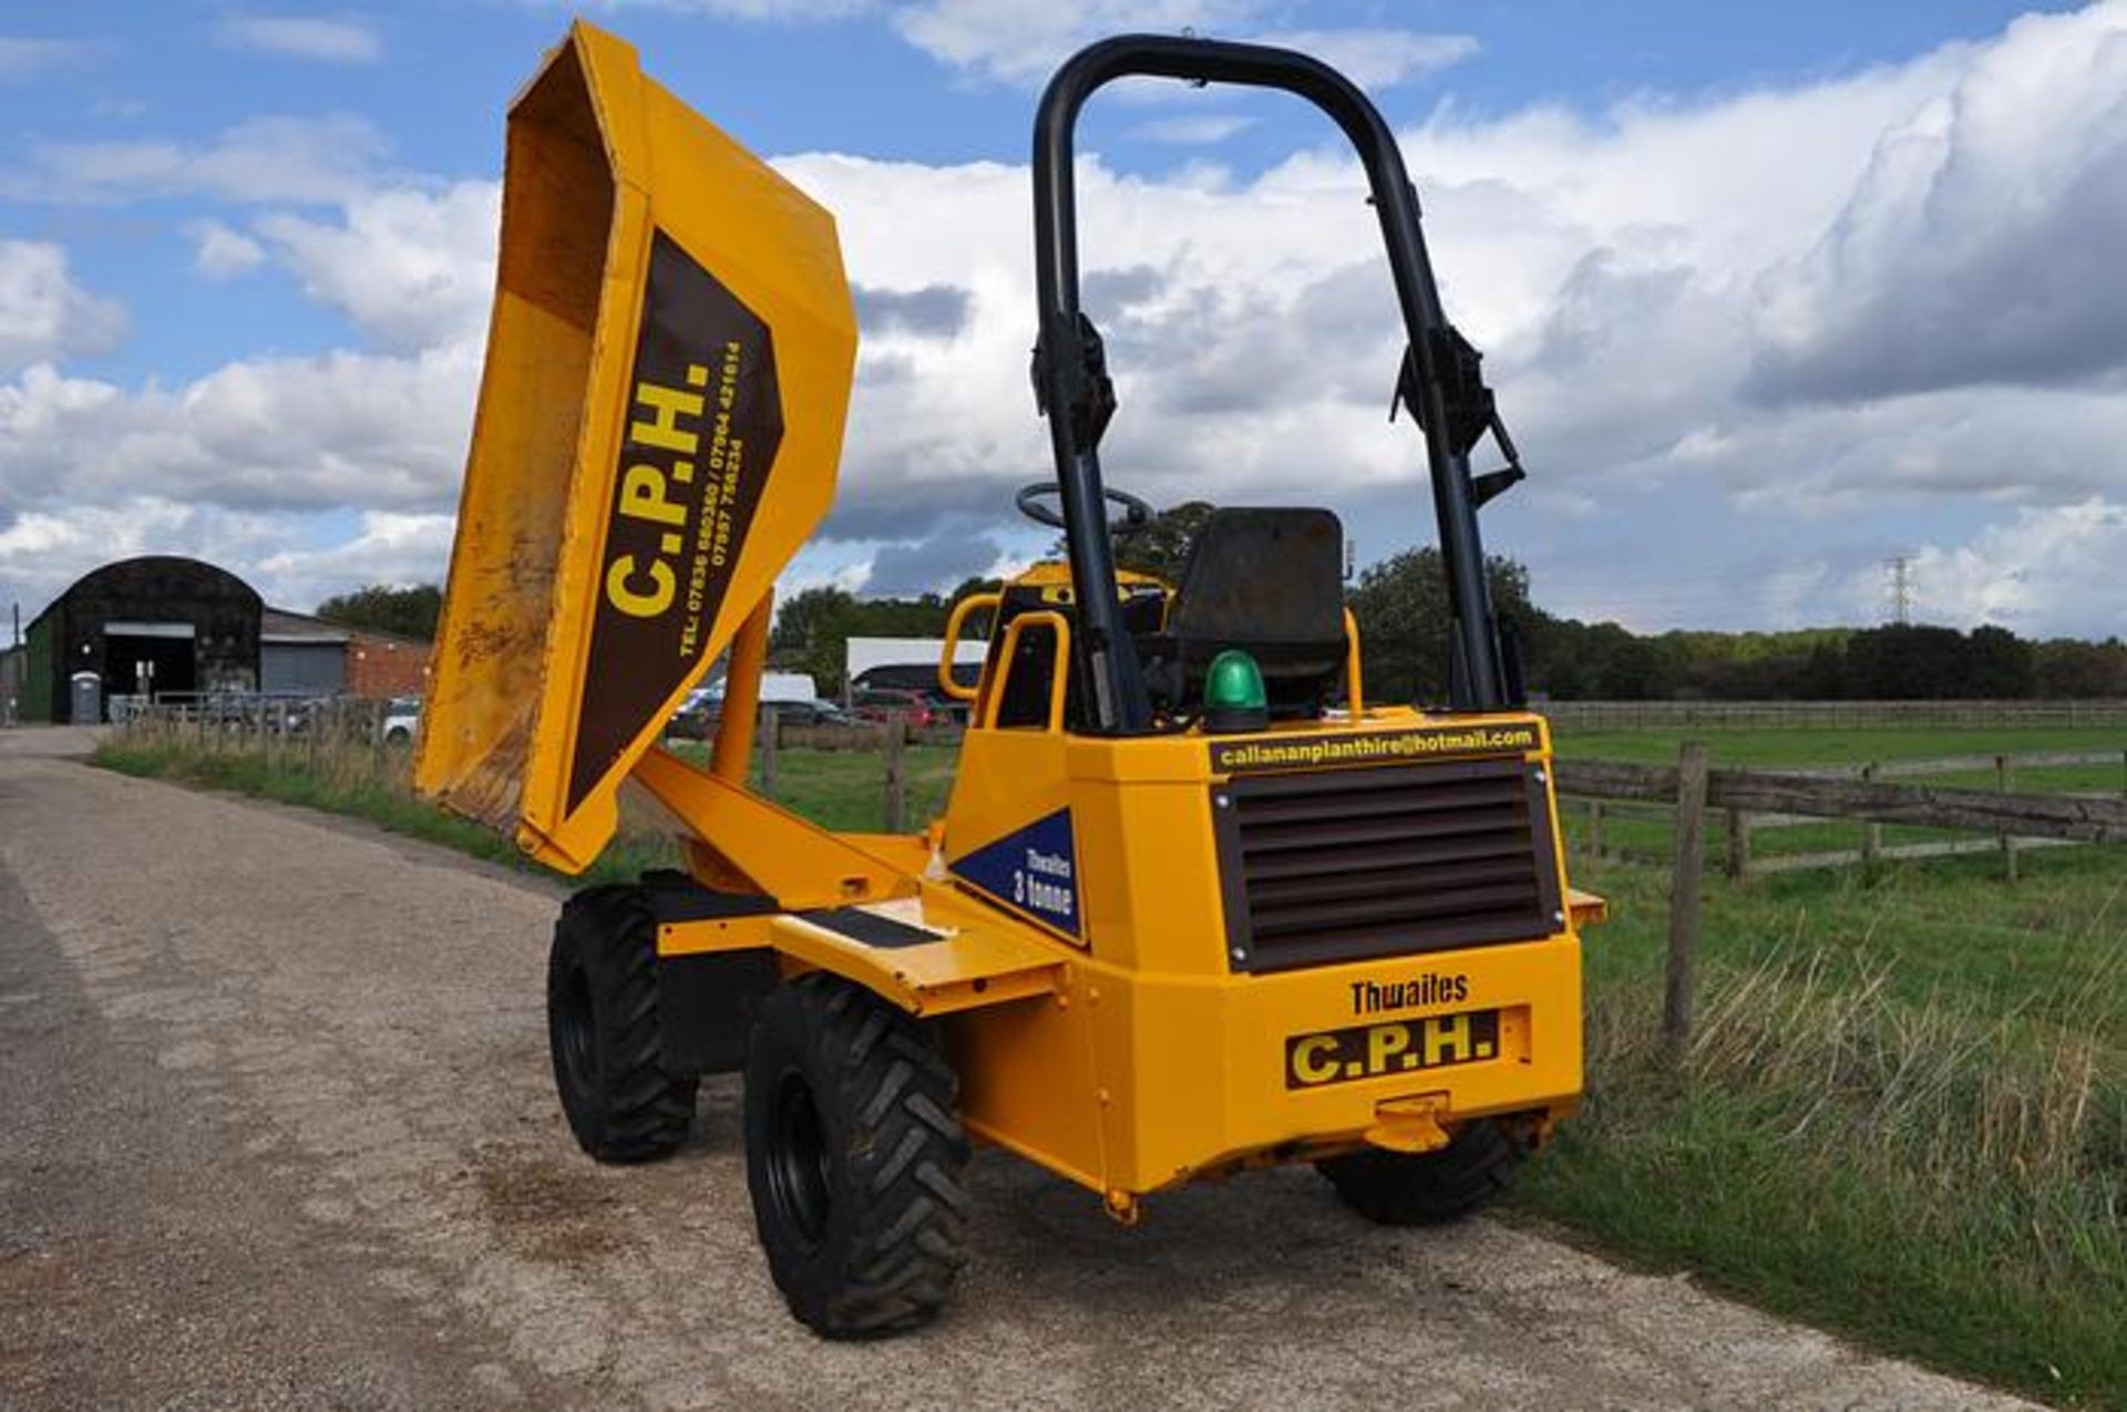
[[[1115,393],[1078,304],[1072,134],[1121,74],[1323,108],[1389,255],[1395,396],[1423,432],[1453,621],[1438,706],[1374,702],[1319,508],[1221,508],[1176,583],[1117,572],[1146,506],[1102,485]],[[1355,219],[1357,204],[1355,204]],[[776,574],[825,515],[857,325],[832,217],[570,30],[508,119],[502,255],[417,780],[581,872],[636,785],[685,870],[576,893],[549,1027],[568,1125],[638,1161],[744,1072],[776,1284],[813,1329],[927,1321],[966,1261],[970,1144],[1151,1193],[1310,1161],[1383,1223],[1472,1210],[1580,1093],[1580,927],[1476,508],[1521,478],[1446,323],[1380,115],[1327,66],[1123,36],[1034,125],[1034,383],[1068,557],[981,625],[944,817],[823,829],[747,787]],[[1506,468],[1470,474],[1491,436]],[[1119,506],[1110,521],[1110,508]],[[706,759],[659,744],[710,663]]]

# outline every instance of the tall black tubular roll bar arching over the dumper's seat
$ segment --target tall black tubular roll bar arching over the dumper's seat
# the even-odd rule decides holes
[[[1049,417],[1064,500],[1070,572],[1078,598],[1078,666],[1091,680],[1093,729],[1136,736],[1151,729],[1153,708],[1138,672],[1136,646],[1123,632],[1115,595],[1115,547],[1108,540],[1100,483],[1100,434],[1115,410],[1100,334],[1078,310],[1078,206],[1072,138],[1078,108],[1104,83],[1127,74],[1240,83],[1285,89],[1327,113],[1366,164],[1374,213],[1395,276],[1395,298],[1410,336],[1417,393],[1410,410],[1425,430],[1434,483],[1440,557],[1455,606],[1455,710],[1497,710],[1508,704],[1500,672],[1500,629],[1485,581],[1485,544],[1476,525],[1468,449],[1457,447],[1442,364],[1459,336],[1440,310],[1440,289],[1419,232],[1419,196],[1404,172],[1404,153],[1380,111],[1344,74],[1291,49],[1232,45],[1208,38],[1119,34],[1081,49],[1049,81],[1034,117],[1034,268],[1040,298],[1040,340],[1034,351],[1036,402]],[[1410,379],[1406,376],[1406,383]]]

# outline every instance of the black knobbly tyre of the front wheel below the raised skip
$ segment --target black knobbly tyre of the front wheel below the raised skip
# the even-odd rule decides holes
[[[583,965],[591,993],[598,1072],[572,1082],[564,1061],[562,997]],[[547,1044],[576,1144],[598,1161],[670,1157],[693,1123],[700,1078],[661,1063],[657,925],[640,887],[587,887],[562,904],[547,957]]]

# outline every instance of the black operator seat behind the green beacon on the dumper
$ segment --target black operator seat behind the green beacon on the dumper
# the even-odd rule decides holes
[[[1212,510],[1189,547],[1168,621],[1136,634],[1153,706],[1187,710],[1212,659],[1263,670],[1270,715],[1321,715],[1344,670],[1344,525],[1329,510]]]

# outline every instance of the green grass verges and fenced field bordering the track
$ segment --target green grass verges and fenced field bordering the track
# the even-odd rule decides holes
[[[1740,766],[2127,744],[2055,729],[1699,736]],[[1648,763],[1676,746],[1672,734],[1559,740]],[[413,802],[402,757],[376,776],[366,749],[315,772],[300,753],[268,766],[123,738],[100,759],[510,855]],[[785,751],[778,774],[800,812],[878,827],[878,770],[874,755]],[[951,770],[953,751],[908,751],[910,823],[942,804]],[[2116,789],[2118,774],[2016,785]],[[1631,827],[1653,831],[1648,846],[1665,831]],[[668,859],[634,827],[600,876]],[[1702,1023],[1672,1068],[1657,1046],[1665,872],[1582,861],[1574,880],[1614,914],[1587,940],[1589,1099],[1508,1214],[1950,1372],[2127,1408],[2127,853],[2031,853],[2021,882],[1999,874],[1999,859],[1970,857],[1872,878],[1710,876]]]

